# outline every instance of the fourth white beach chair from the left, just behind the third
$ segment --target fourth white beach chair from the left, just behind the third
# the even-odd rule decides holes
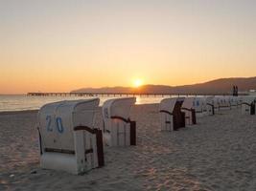
[[[181,106],[181,111],[185,113],[186,125],[193,125],[197,123],[196,111],[193,106],[195,97],[186,97]]]

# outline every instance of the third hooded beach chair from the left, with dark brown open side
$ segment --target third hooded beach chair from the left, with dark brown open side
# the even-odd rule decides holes
[[[185,114],[181,113],[184,97],[165,98],[159,105],[162,131],[175,131],[185,127]]]

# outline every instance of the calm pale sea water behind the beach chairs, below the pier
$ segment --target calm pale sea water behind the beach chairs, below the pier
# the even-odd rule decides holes
[[[94,96],[95,97],[95,96]],[[115,96],[115,98],[121,96]],[[123,96],[126,97],[126,96]],[[136,104],[159,103],[161,99],[170,96],[136,96]],[[88,99],[92,96],[0,96],[0,112],[37,110],[46,103],[60,100]],[[100,105],[113,96],[100,96]]]

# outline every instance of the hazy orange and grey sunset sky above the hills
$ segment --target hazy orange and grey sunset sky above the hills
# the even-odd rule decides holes
[[[255,10],[254,0],[0,0],[0,94],[255,76]]]

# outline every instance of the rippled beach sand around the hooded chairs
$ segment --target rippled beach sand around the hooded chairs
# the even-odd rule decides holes
[[[255,116],[222,111],[161,132],[158,115],[133,107],[137,146],[107,147],[103,168],[75,176],[39,168],[36,111],[1,113],[0,190],[256,190]]]

